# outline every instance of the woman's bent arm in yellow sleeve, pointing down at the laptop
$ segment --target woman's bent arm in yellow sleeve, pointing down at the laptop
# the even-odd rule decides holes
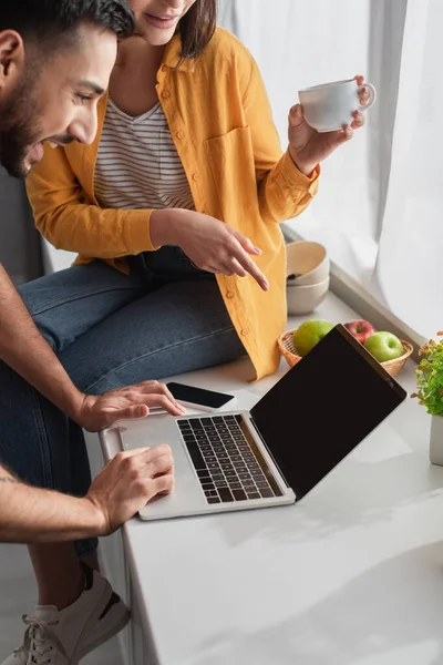
[[[260,249],[214,217],[175,208],[102,209],[82,203],[82,187],[61,147],[47,149],[28,178],[28,193],[37,227],[55,247],[97,258],[119,258],[161,245],[178,245],[202,269],[253,275],[261,288],[268,289],[266,277],[250,258]]]

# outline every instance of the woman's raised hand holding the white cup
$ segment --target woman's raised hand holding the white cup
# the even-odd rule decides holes
[[[356,76],[359,88],[364,85],[363,76]],[[365,106],[370,100],[368,89],[359,91],[359,100]],[[354,111],[353,122],[344,125],[338,132],[319,133],[308,125],[303,117],[303,109],[300,104],[292,106],[289,112],[289,153],[293,163],[305,175],[311,175],[319,162],[347,143],[353,136],[353,131],[362,127],[365,122],[364,113]]]

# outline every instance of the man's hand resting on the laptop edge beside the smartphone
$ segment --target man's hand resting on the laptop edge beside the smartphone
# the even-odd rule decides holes
[[[164,383],[143,381],[104,395],[84,395],[73,420],[90,432],[97,432],[117,420],[145,418],[150,407],[162,407],[173,416],[186,412]]]

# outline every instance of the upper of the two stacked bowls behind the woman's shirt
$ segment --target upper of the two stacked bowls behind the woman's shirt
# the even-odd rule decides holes
[[[329,277],[330,262],[326,248],[319,243],[300,241],[286,245],[286,276],[297,275],[288,286],[308,286],[324,282]]]

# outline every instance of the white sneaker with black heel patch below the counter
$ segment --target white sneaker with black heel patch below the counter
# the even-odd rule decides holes
[[[33,616],[23,616],[23,644],[2,665],[78,665],[125,627],[130,612],[107,580],[87,569],[85,581],[85,591],[65,610],[40,605]]]

